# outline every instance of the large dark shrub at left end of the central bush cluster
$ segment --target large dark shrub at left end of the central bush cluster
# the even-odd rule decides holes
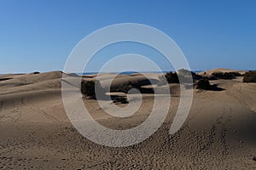
[[[103,93],[103,88],[99,81],[82,81],[81,82],[81,93],[90,99],[96,99],[96,90],[99,94]]]

